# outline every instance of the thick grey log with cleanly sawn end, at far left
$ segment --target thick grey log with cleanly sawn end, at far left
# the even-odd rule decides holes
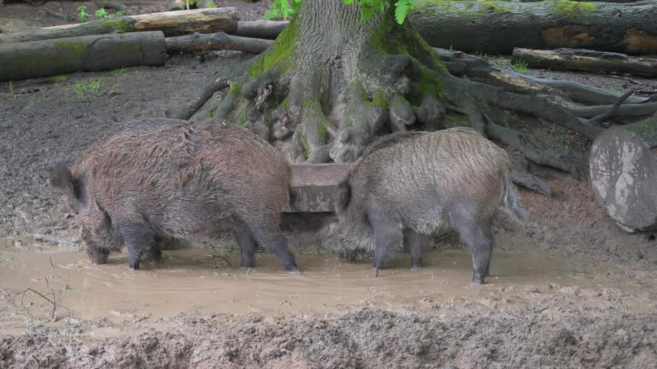
[[[162,66],[162,32],[135,32],[0,44],[0,81],[128,66]]]

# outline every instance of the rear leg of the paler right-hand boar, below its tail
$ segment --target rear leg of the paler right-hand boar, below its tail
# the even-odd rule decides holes
[[[493,235],[490,222],[482,222],[459,227],[463,242],[468,245],[472,254],[472,282],[470,284],[484,284],[493,251]]]

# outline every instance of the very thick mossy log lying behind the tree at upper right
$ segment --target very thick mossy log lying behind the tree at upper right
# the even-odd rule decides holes
[[[434,47],[510,54],[514,47],[562,47],[657,53],[655,1],[629,4],[574,1],[417,0],[408,19]]]

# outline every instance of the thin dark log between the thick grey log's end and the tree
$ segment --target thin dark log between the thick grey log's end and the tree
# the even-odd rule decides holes
[[[260,54],[273,42],[268,39],[227,35],[223,32],[194,33],[193,35],[167,37],[166,49],[168,53],[193,53],[229,49]]]

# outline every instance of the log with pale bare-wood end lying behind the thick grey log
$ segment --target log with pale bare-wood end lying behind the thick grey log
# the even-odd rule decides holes
[[[66,24],[64,26],[2,33],[0,34],[0,44],[81,35],[104,35],[114,32],[162,31],[166,37],[194,32],[235,33],[237,31],[237,18],[235,8],[195,9],[192,11],[139,14],[79,24]]]

